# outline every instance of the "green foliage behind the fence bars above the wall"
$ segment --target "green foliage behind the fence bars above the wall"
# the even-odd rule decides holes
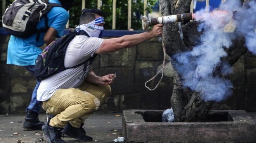
[[[147,13],[152,12],[152,7],[158,0],[147,0]],[[69,26],[76,27],[79,24],[81,14],[81,0],[74,1],[74,7],[70,9]],[[106,24],[105,29],[112,29],[112,0],[102,0],[103,16]],[[85,0],[86,8],[97,8],[97,0]],[[136,13],[136,14],[135,14]],[[131,6],[131,28],[138,30],[142,29],[140,15],[144,13],[144,0],[134,2]],[[137,15],[137,16],[136,16]],[[117,0],[116,2],[116,29],[128,28],[128,0]]]

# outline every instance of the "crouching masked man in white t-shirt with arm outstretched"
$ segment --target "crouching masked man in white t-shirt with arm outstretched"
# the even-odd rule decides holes
[[[103,24],[101,10],[83,10],[80,25],[76,27],[76,31],[86,32],[89,37],[76,35],[71,40],[65,54],[65,67],[76,66],[95,54],[134,47],[163,34],[163,24],[157,24],[152,30],[141,34],[104,40],[99,38],[104,29]],[[64,143],[65,141],[61,140],[61,132],[79,141],[93,140],[82,128],[84,120],[109,97],[111,94],[109,84],[116,76],[114,74],[96,76],[91,66],[92,64],[87,65],[86,72],[83,71],[84,65],[81,65],[41,81],[37,100],[42,101],[42,107],[48,114],[54,115],[47,124],[42,126],[50,142]]]

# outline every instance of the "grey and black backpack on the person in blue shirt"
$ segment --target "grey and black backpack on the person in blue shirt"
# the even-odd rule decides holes
[[[29,37],[48,30],[48,18],[46,13],[54,6],[61,7],[57,3],[49,3],[48,0],[15,0],[3,14],[3,29],[16,37]],[[36,25],[42,17],[45,17],[45,28],[36,29]]]

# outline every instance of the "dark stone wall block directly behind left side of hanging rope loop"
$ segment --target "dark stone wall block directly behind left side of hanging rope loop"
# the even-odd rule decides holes
[[[156,74],[154,62],[138,61],[135,64],[135,89],[136,91],[148,91],[145,82]],[[154,87],[154,81],[148,82],[147,86]]]

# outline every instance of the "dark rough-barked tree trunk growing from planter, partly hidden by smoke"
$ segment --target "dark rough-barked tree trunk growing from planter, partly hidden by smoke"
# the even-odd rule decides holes
[[[163,16],[187,13],[190,10],[192,0],[160,0],[161,13]],[[247,0],[248,1],[248,0]],[[197,31],[199,23],[188,22],[183,25],[184,39],[180,39],[178,24],[166,24],[164,26],[163,42],[167,54],[171,57],[174,68],[174,88],[171,96],[171,106],[175,114],[175,121],[202,121],[206,119],[213,101],[205,102],[201,99],[201,93],[190,90],[183,86],[181,75],[177,72],[173,56],[178,53],[191,51],[200,42],[201,32]],[[226,49],[228,56],[223,57],[221,62],[227,62],[231,66],[246,52],[244,38],[235,39],[233,46]],[[216,67],[214,75],[221,76],[220,68]],[[224,76],[222,76],[225,78]]]

